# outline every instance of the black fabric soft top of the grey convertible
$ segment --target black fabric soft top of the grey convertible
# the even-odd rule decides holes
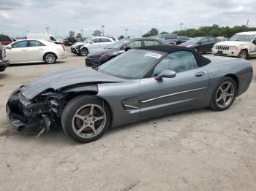
[[[211,60],[203,57],[203,55],[200,55],[199,53],[195,52],[194,49],[188,48],[188,47],[171,46],[171,45],[156,45],[156,46],[148,46],[148,47],[139,47],[136,49],[155,50],[155,51],[167,52],[167,53],[186,50],[186,51],[192,52],[195,55],[198,66],[206,66],[206,64],[211,63]]]

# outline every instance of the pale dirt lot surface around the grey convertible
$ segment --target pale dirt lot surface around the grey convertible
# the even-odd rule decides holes
[[[256,69],[256,59],[250,60]],[[256,190],[256,76],[225,112],[200,109],[108,130],[77,144],[62,130],[18,133],[5,104],[16,87],[59,69],[84,66],[70,55],[55,65],[0,73],[0,190]],[[256,70],[255,70],[256,71]]]

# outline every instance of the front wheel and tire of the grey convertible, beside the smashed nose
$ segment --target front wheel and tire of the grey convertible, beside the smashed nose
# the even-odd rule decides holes
[[[102,99],[90,95],[73,98],[61,114],[64,132],[80,143],[99,139],[110,127],[110,121],[108,105]]]

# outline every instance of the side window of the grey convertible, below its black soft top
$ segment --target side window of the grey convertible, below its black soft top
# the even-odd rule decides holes
[[[157,76],[164,70],[173,70],[176,72],[187,71],[197,68],[197,61],[192,52],[178,51],[170,53],[160,61],[154,68],[152,77]]]

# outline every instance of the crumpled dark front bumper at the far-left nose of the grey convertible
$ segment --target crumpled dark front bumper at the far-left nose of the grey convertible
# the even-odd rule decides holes
[[[6,113],[9,120],[17,130],[24,128],[37,128],[40,125],[40,120],[36,115],[33,115],[31,105],[23,103],[20,97],[20,88],[15,90],[7,101]],[[29,103],[29,100],[27,100]]]

